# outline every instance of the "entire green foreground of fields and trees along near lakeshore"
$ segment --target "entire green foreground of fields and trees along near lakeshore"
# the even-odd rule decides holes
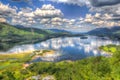
[[[56,80],[120,80],[120,46],[108,45],[112,57],[90,57],[78,61],[38,62],[23,69],[23,62],[5,61],[0,80],[30,80],[31,76],[52,75]],[[112,50],[111,50],[112,49]],[[115,49],[115,50],[114,50]],[[104,50],[106,51],[106,50]],[[109,52],[107,51],[107,52]],[[7,65],[11,64],[9,67]],[[42,79],[42,78],[40,78]],[[32,79],[31,79],[32,80]]]

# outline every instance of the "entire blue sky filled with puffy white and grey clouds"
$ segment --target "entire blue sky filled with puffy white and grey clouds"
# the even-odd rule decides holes
[[[0,0],[0,22],[69,30],[120,26],[120,0]]]

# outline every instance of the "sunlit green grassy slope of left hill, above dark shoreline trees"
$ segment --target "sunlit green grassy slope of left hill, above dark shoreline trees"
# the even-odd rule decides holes
[[[22,39],[34,39],[34,38],[42,38],[44,35],[39,33],[32,34],[30,31],[20,30],[16,27],[13,27],[8,24],[0,23],[0,37],[4,38],[2,41],[12,41],[12,40],[22,40]],[[14,38],[13,38],[14,37]],[[22,38],[22,39],[21,39]]]

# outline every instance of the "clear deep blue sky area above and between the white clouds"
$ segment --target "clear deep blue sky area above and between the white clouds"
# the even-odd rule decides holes
[[[65,4],[65,3],[56,3],[52,1],[39,1],[33,0],[32,5],[26,1],[12,1],[12,0],[0,0],[4,4],[8,4],[10,6],[16,6],[18,8],[31,7],[35,10],[38,7],[42,7],[43,4],[52,4],[55,8],[60,9],[65,18],[78,18],[85,17],[87,13],[89,13],[89,8],[87,6],[78,6],[73,4]]]

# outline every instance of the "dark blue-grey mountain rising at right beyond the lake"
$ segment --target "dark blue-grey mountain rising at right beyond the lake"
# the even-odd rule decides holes
[[[94,30],[89,31],[87,34],[96,35],[96,36],[106,36],[111,39],[119,39],[120,40],[120,27],[111,27],[111,28],[96,28]]]

